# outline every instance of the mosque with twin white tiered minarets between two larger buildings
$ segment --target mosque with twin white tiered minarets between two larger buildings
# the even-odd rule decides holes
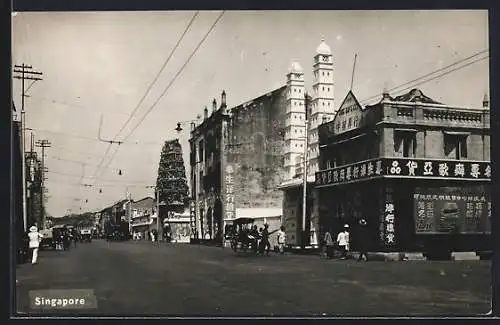
[[[293,72],[298,70],[302,73],[300,76],[303,76],[302,68],[299,70],[297,67],[300,65],[294,63],[290,70]],[[296,142],[300,141],[301,147],[307,147],[307,152],[303,149],[297,152],[296,160],[290,164],[293,169],[286,174],[287,177],[279,185],[284,192],[283,225],[287,233],[288,246],[292,248],[316,248],[318,246],[319,201],[318,192],[314,187],[314,173],[319,170],[318,130],[322,123],[331,121],[335,116],[333,54],[325,40],[321,40],[313,55],[312,71],[312,96],[303,94],[300,96],[303,102],[301,111],[303,115],[297,122],[303,132],[300,133],[299,139],[295,139]],[[294,75],[296,78],[299,76],[296,72]],[[289,77],[288,80],[290,79]],[[301,81],[299,85],[304,87],[303,78],[297,79]],[[305,137],[307,137],[307,142]],[[304,162],[304,157],[306,157],[306,162]],[[305,176],[304,170],[306,170]],[[306,206],[303,217],[304,178],[306,179]]]

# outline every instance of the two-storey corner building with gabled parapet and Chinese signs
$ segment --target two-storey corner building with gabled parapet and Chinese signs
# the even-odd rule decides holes
[[[321,232],[368,222],[370,247],[430,255],[490,245],[489,102],[452,107],[420,90],[362,107],[349,92],[319,127]]]

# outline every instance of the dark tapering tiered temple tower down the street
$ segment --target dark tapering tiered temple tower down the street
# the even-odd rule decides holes
[[[165,141],[158,165],[156,188],[160,202],[167,205],[181,204],[182,209],[189,204],[189,190],[186,168],[179,140]]]

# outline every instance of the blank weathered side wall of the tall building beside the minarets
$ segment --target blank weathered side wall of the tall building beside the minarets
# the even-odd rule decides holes
[[[233,109],[228,160],[235,164],[236,208],[281,208],[285,88]]]

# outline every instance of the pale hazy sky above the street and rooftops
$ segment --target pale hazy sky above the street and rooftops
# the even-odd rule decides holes
[[[321,39],[333,53],[335,106],[350,88],[355,54],[353,92],[364,101],[384,87],[400,86],[488,50],[489,43],[487,11],[227,11],[172,83],[221,14],[201,11],[132,115],[194,14],[13,15],[13,64],[25,63],[43,73],[43,80],[27,91],[25,107],[26,127],[33,129],[28,139],[33,132],[35,140],[51,142],[46,150],[50,215],[97,211],[126,193],[132,199],[154,196],[147,186],[156,183],[164,141],[179,138],[189,164],[187,121],[203,114],[205,106],[211,110],[212,99],[219,102],[222,90],[232,107],[284,85],[293,61],[302,65],[310,91],[312,60]],[[475,59],[481,57],[486,54]],[[445,104],[480,108],[489,90],[488,64],[488,59],[478,61],[417,88]],[[21,107],[17,79],[13,98]],[[180,133],[174,130],[178,121],[186,121]],[[128,136],[127,141],[108,151],[99,131],[101,139],[112,140],[120,129],[116,139]]]

